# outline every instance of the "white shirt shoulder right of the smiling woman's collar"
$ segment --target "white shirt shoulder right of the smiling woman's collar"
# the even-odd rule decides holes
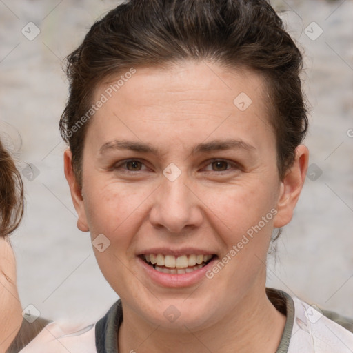
[[[352,353],[353,333],[341,324],[344,321],[347,327],[353,327],[353,321],[334,312],[321,311],[296,297],[292,299],[294,323],[288,353]]]

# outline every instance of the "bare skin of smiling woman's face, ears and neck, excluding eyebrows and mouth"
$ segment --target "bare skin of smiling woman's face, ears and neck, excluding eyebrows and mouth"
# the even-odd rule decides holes
[[[96,89],[94,101],[109,85]],[[278,347],[285,316],[265,295],[266,254],[273,228],[292,219],[308,152],[303,145],[296,148],[294,164],[280,181],[264,91],[259,75],[212,63],[137,68],[90,121],[82,188],[70,150],[65,152],[79,229],[90,231],[92,240],[104,234],[110,241],[104,252],[94,251],[123,302],[119,352],[275,352]],[[245,111],[233,103],[241,92],[252,99]],[[105,143],[121,139],[150,143],[159,154],[100,152]],[[194,145],[216,139],[252,148],[192,154]],[[141,161],[138,171],[118,165],[126,159]],[[225,162],[217,165],[214,159]],[[181,171],[175,181],[163,175],[170,163]],[[196,248],[222,259],[272,209],[276,216],[213,279],[167,288],[152,281],[137,258],[161,247]],[[170,305],[180,312],[174,322],[163,315]]]

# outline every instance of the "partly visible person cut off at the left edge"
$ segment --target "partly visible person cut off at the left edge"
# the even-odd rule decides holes
[[[0,141],[0,352],[19,352],[48,321],[22,317],[16,285],[16,261],[8,239],[23,215],[23,183],[13,159]],[[32,319],[32,317],[30,317]]]

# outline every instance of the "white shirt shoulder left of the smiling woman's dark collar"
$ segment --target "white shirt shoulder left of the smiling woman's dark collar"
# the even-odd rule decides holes
[[[97,353],[95,325],[72,327],[49,323],[20,353]]]

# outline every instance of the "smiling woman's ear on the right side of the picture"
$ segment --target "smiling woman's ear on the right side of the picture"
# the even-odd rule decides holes
[[[308,160],[309,151],[305,145],[299,145],[295,150],[294,163],[281,181],[277,214],[274,218],[275,228],[281,228],[292,220],[295,205],[304,185]]]

